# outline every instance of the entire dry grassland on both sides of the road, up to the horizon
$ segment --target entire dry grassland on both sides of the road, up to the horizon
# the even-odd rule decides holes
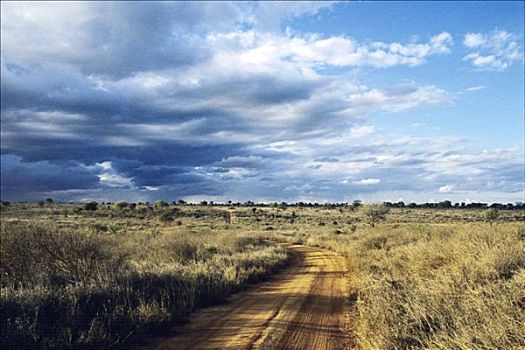
[[[385,207],[3,205],[0,346],[151,336],[283,266],[285,240],[347,258],[361,349],[524,348],[524,211]]]

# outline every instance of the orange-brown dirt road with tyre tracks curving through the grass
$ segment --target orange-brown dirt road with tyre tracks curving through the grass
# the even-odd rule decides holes
[[[345,259],[291,245],[300,256],[268,282],[196,312],[149,349],[348,349]]]

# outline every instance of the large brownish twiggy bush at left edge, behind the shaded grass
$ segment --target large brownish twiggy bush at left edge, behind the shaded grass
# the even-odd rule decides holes
[[[101,268],[119,260],[102,237],[42,224],[7,223],[1,230],[2,287],[98,281]]]

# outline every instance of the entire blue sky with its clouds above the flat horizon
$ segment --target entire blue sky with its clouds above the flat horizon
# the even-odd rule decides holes
[[[1,2],[1,197],[525,200],[524,2]]]

